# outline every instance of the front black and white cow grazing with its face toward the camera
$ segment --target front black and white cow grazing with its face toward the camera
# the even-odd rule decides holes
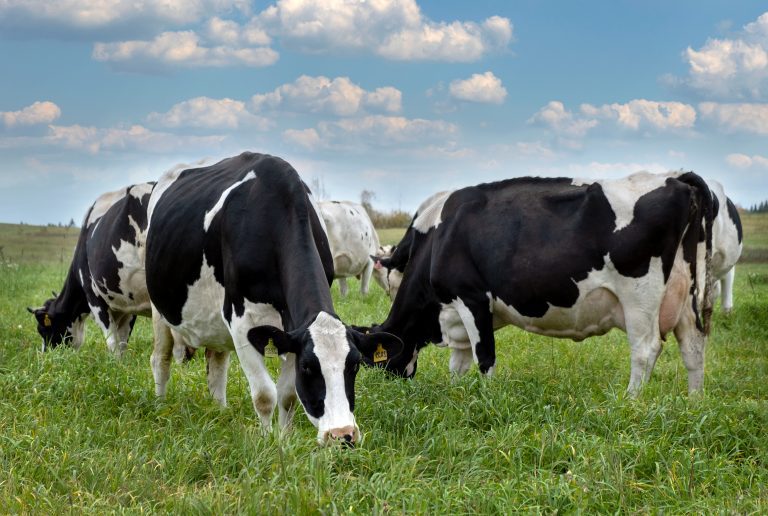
[[[293,167],[269,155],[243,153],[159,180],[146,249],[159,396],[169,377],[170,327],[188,345],[207,348],[208,387],[222,404],[234,349],[265,431],[275,404],[281,426],[290,424],[298,395],[319,442],[359,439],[359,364],[376,351],[396,358],[402,342],[363,335],[334,313],[321,220]],[[277,386],[264,362],[273,353],[284,358]]]

